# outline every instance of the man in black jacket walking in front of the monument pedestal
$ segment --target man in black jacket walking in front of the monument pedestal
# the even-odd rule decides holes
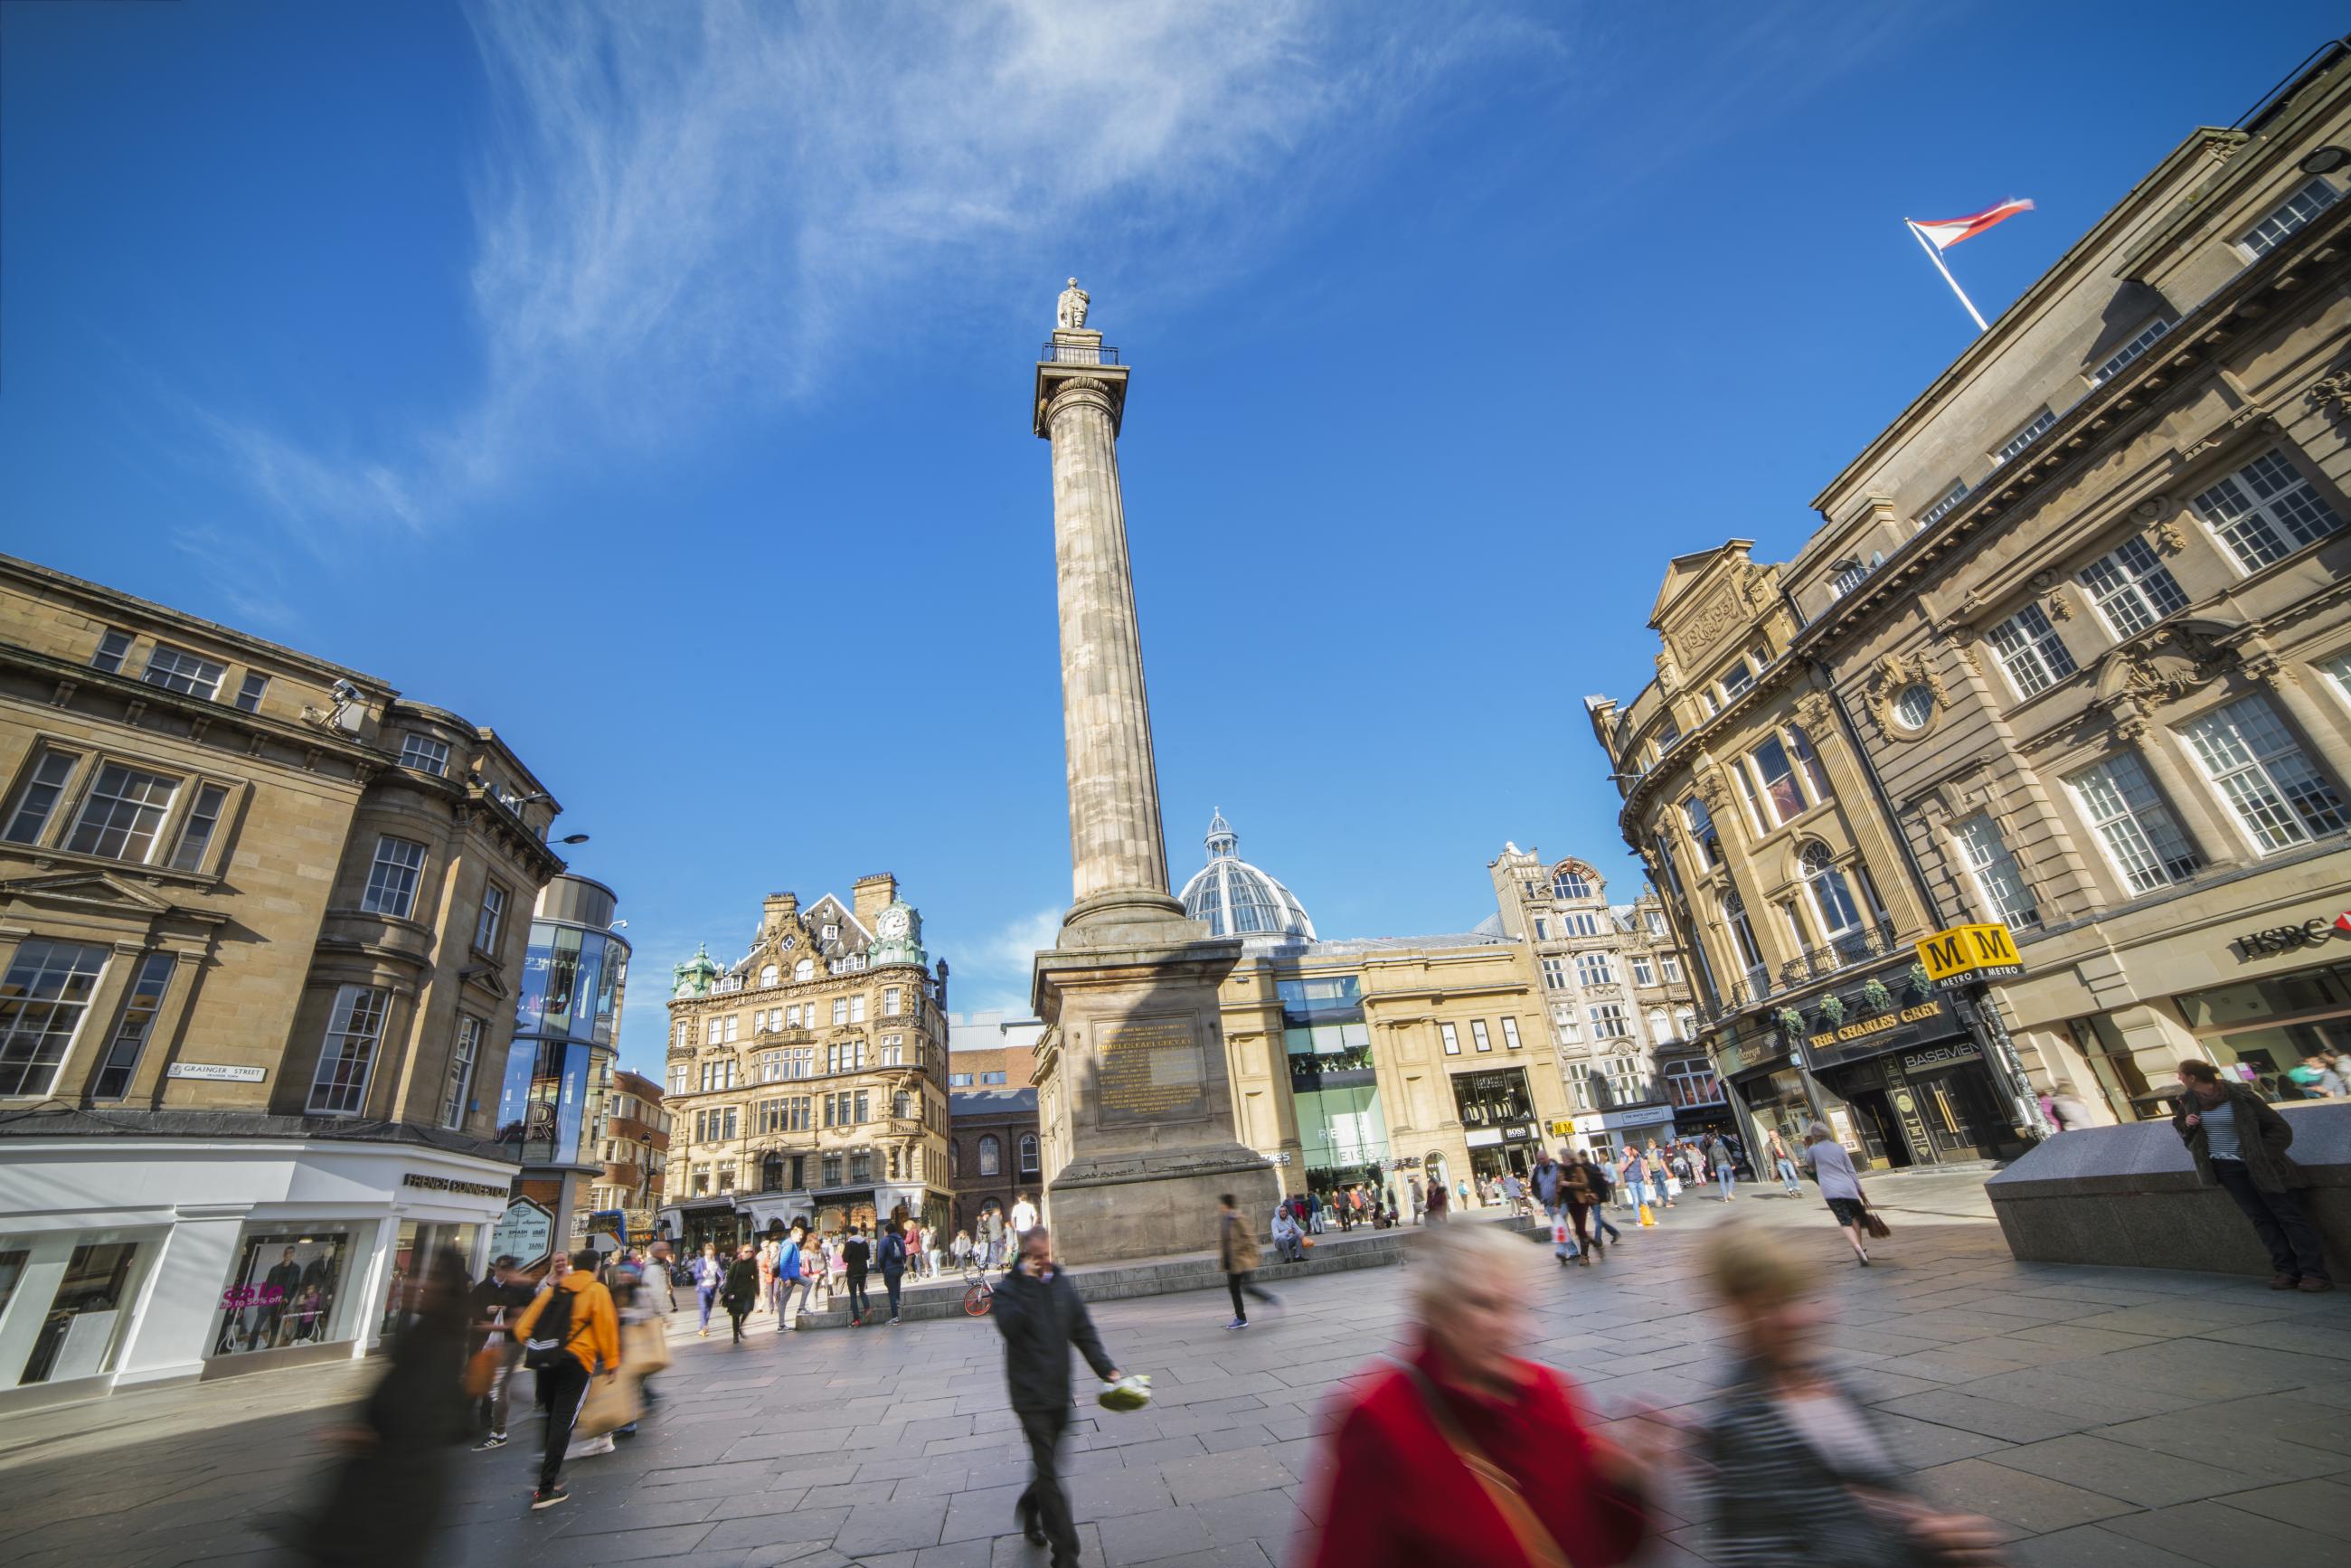
[[[1077,1563],[1077,1523],[1058,1474],[1060,1434],[1070,1427],[1070,1347],[1077,1345],[1103,1382],[1114,1382],[1119,1368],[1093,1333],[1077,1286],[1053,1262],[1044,1225],[1020,1237],[1020,1267],[997,1286],[992,1316],[1004,1335],[1004,1382],[1034,1469],[1013,1512],[1032,1544],[1053,1547],[1053,1568],[1070,1568]]]

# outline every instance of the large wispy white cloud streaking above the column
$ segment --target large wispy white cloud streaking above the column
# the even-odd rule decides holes
[[[482,383],[395,451],[209,414],[313,531],[407,531],[557,456],[661,447],[809,397],[839,346],[969,331],[1058,270],[1166,299],[1246,266],[1295,205],[1505,52],[1483,7],[1321,0],[470,12],[496,134],[473,183]]]

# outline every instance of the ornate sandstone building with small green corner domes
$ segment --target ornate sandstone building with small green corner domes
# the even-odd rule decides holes
[[[792,1220],[947,1218],[947,966],[891,875],[851,903],[771,893],[750,952],[708,952],[670,997],[663,1229],[698,1248]]]

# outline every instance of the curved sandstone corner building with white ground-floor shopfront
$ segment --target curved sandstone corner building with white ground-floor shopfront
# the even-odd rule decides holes
[[[0,557],[0,1408],[362,1354],[480,1265],[557,804],[386,682]]]

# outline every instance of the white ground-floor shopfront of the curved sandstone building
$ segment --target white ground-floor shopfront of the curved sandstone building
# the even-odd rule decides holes
[[[395,1140],[0,1140],[0,1413],[381,1349],[435,1248],[482,1274],[513,1178]]]

